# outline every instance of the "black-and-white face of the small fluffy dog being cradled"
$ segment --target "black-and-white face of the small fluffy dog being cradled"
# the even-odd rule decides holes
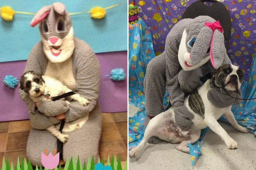
[[[38,97],[45,91],[44,79],[33,71],[25,72],[20,78],[20,89],[32,97]]]

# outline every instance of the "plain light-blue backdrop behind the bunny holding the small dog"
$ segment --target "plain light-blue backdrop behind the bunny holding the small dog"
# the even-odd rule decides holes
[[[51,5],[52,0],[1,0],[0,7],[10,6],[15,11],[36,13],[43,6]],[[59,0],[71,12],[90,11],[124,3],[106,10],[103,19],[92,19],[90,13],[71,15],[75,36],[87,42],[95,53],[127,50],[127,3],[125,0]],[[13,21],[0,18],[0,62],[25,60],[32,47],[41,40],[38,25],[32,28],[29,23],[33,15],[15,14]]]

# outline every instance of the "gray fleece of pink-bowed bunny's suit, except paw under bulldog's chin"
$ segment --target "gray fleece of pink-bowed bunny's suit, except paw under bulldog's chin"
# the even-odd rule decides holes
[[[193,114],[183,106],[185,95],[202,85],[200,78],[213,69],[212,64],[209,64],[211,63],[210,60],[205,61],[205,64],[201,66],[198,64],[205,58],[213,35],[213,31],[205,26],[205,22],[213,23],[215,20],[209,16],[181,20],[167,35],[164,52],[148,63],[147,67],[149,68],[147,68],[144,80],[146,114],[156,116],[163,111],[162,100],[167,87],[178,126],[186,128],[193,125],[191,121]],[[184,30],[186,30],[186,41],[183,46],[191,54],[192,65],[199,65],[194,68],[195,70],[182,70],[178,59]],[[194,35],[197,35],[197,40],[194,46],[190,48],[187,42]],[[231,61],[226,54],[224,39],[222,39],[223,34],[216,33],[215,35],[216,37],[213,40],[213,60],[217,69],[220,65],[231,63]],[[163,68],[164,64],[165,68]]]

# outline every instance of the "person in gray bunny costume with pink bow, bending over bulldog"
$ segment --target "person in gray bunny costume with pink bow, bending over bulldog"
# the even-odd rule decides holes
[[[199,16],[178,22],[167,35],[164,52],[147,65],[144,79],[145,128],[152,117],[164,111],[166,87],[170,104],[174,106],[176,124],[183,130],[191,127],[194,116],[183,105],[184,97],[203,85],[202,77],[223,64],[231,64],[231,61],[219,21]],[[221,107],[218,98],[222,95],[220,91],[211,89],[208,99]],[[234,96],[241,98],[241,93]],[[153,136],[148,142],[157,144],[161,140]]]

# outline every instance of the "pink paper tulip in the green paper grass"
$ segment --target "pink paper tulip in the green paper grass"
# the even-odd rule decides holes
[[[49,155],[47,155],[47,149],[45,149],[46,155],[42,152],[41,153],[41,162],[42,165],[47,169],[54,169],[59,164],[59,152],[55,155],[56,149],[54,149],[54,152],[50,152]]]

